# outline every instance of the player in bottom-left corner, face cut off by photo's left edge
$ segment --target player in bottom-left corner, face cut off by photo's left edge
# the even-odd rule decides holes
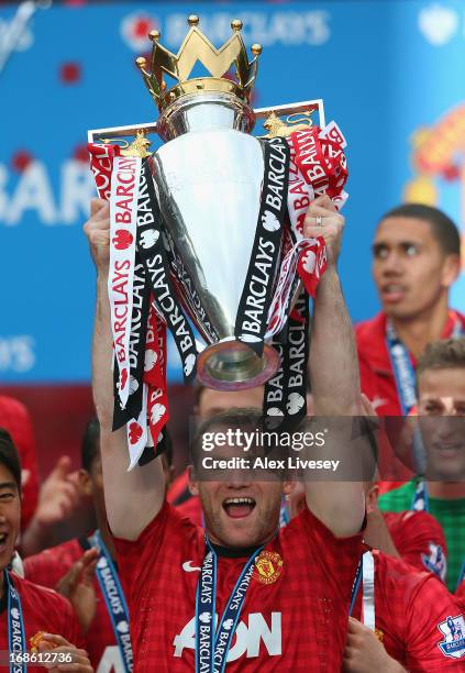
[[[69,603],[55,592],[37,586],[11,572],[21,520],[21,465],[9,433],[0,429],[0,650],[9,652],[10,670],[23,670],[15,655],[26,653],[37,642],[40,661],[53,650],[56,671],[90,673],[85,650],[78,649],[81,636]],[[13,658],[13,659],[12,659]],[[21,665],[20,665],[21,664]],[[34,666],[29,666],[34,668]]]

